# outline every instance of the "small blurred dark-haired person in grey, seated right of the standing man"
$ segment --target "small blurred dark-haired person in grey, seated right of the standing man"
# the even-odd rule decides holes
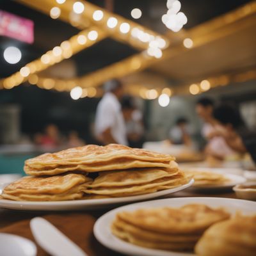
[[[170,129],[169,138],[173,144],[183,144],[191,146],[191,131],[189,131],[188,119],[184,117],[177,118],[175,126]]]

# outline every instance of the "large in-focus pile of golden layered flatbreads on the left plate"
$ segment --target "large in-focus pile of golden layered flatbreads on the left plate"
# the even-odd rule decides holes
[[[188,183],[174,160],[170,155],[117,144],[69,148],[28,159],[24,171],[33,177],[10,184],[2,196],[43,201],[152,193]],[[74,179],[81,182],[72,182]],[[51,189],[36,190],[35,184],[45,188],[51,184]],[[40,193],[47,196],[39,196]]]

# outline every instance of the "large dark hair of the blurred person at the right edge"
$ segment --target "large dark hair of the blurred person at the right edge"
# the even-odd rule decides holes
[[[234,129],[244,126],[243,118],[237,108],[230,104],[220,104],[213,109],[213,116],[221,124],[232,124]]]

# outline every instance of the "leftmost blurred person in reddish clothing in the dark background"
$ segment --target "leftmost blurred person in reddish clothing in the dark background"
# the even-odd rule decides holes
[[[55,148],[60,146],[60,131],[54,124],[45,127],[44,134],[37,133],[35,135],[35,143],[44,147]]]

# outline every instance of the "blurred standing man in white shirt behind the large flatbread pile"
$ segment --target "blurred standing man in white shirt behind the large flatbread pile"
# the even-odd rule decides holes
[[[95,134],[103,145],[118,143],[127,145],[124,116],[119,99],[124,95],[120,81],[104,84],[105,94],[100,100],[95,118]]]

